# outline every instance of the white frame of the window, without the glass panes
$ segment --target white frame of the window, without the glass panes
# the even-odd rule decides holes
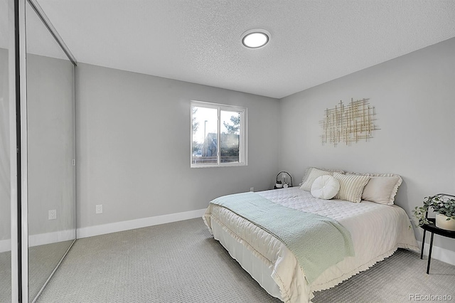
[[[213,108],[218,110],[218,146],[217,146],[217,164],[193,164],[193,106],[197,107],[206,107],[206,108]],[[230,162],[230,163],[221,163],[220,162],[220,129],[221,129],[221,121],[220,121],[220,113],[222,110],[232,111],[232,112],[240,112],[240,139],[239,139],[239,161],[238,162]],[[190,104],[190,112],[191,112],[191,119],[190,119],[190,164],[191,168],[209,168],[209,167],[229,167],[229,166],[247,166],[247,112],[248,109],[246,107],[234,106],[234,105],[223,105],[218,103],[212,102],[203,102],[203,101],[196,101],[191,100]]]

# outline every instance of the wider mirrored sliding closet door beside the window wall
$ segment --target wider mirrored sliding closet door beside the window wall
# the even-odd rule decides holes
[[[75,240],[75,112],[73,63],[28,2],[26,52],[32,302]]]

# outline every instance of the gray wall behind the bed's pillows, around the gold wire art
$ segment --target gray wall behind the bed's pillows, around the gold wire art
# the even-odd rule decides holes
[[[396,203],[412,216],[425,196],[455,193],[455,38],[281,100],[279,168],[301,179],[308,166],[400,174]],[[370,98],[380,130],[370,142],[321,144],[324,110]],[[415,228],[421,240],[419,228]],[[455,251],[454,241],[435,245]]]

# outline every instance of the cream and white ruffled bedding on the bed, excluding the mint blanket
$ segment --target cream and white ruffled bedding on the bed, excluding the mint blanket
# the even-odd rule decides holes
[[[283,302],[311,302],[313,292],[367,270],[397,248],[419,251],[410,219],[399,206],[321,200],[298,187],[257,194],[282,206],[337,220],[353,240],[355,256],[328,267],[309,284],[304,269],[284,243],[227,208],[210,204],[203,216],[210,233],[259,285]]]

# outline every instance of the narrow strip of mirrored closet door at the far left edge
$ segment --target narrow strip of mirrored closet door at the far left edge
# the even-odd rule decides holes
[[[11,302],[8,2],[0,0],[0,302]]]

